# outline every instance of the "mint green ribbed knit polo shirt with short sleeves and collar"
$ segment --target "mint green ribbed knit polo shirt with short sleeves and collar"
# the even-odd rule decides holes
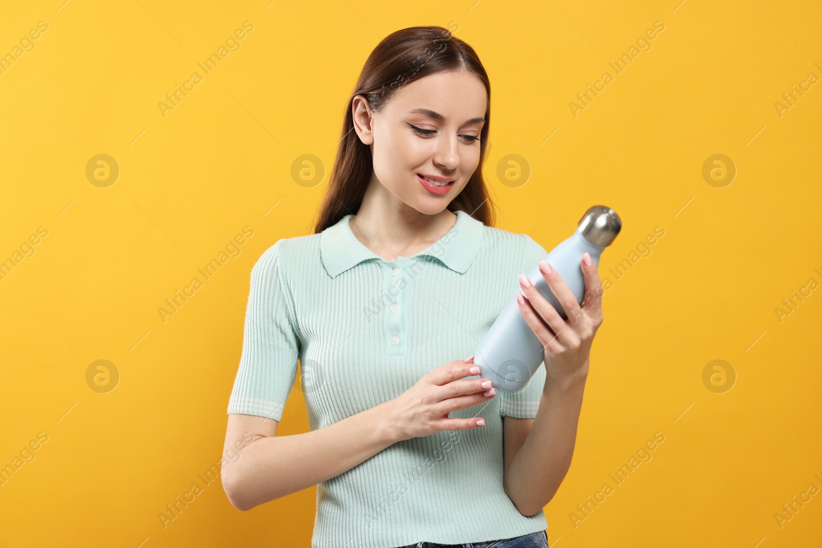
[[[547,251],[526,234],[455,214],[440,240],[395,260],[359,242],[353,214],[266,249],[252,268],[228,412],[279,421],[299,360],[296,388],[314,431],[473,355],[520,289],[519,274]],[[539,367],[524,390],[450,412],[483,417],[485,426],[398,441],[322,481],[312,548],[459,544],[545,530],[543,510],[524,516],[502,488],[502,417],[536,417],[544,383]]]

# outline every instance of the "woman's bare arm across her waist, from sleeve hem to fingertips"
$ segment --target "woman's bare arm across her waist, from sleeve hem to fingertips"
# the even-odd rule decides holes
[[[277,436],[278,421],[229,414],[224,454],[236,448],[239,456],[223,468],[225,494],[234,508],[250,510],[338,476],[398,441],[482,427],[482,417],[448,416],[493,398],[487,379],[463,379],[478,372],[472,362],[451,361],[398,398],[304,434]]]

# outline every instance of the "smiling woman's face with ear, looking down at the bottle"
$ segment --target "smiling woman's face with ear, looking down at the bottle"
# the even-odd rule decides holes
[[[437,72],[400,87],[379,113],[358,95],[354,127],[371,146],[369,185],[425,214],[446,209],[479,164],[487,92],[468,71]],[[437,186],[447,182],[446,186]]]

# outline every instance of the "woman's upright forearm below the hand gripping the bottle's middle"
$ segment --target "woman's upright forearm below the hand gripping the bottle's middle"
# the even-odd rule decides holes
[[[574,454],[576,428],[587,375],[563,382],[545,380],[537,417],[510,463],[506,493],[520,513],[530,516],[556,494]]]

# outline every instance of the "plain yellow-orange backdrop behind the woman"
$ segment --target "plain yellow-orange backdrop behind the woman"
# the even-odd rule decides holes
[[[240,48],[163,114],[244,21]],[[650,48],[613,71],[656,21]],[[550,250],[590,205],[623,221],[600,266],[612,287],[579,443],[546,507],[552,546],[818,545],[822,495],[802,493],[822,489],[820,84],[777,103],[822,77],[822,12],[773,0],[4,7],[0,55],[20,55],[0,72],[0,260],[13,265],[0,279],[0,466],[34,460],[0,486],[0,545],[308,546],[315,488],[241,513],[198,474],[219,463],[252,265],[310,233],[368,53],[429,24],[473,45],[491,76],[497,226]],[[108,165],[89,176],[98,154]],[[302,154],[326,176],[295,180]],[[713,154],[725,159],[704,177]],[[87,375],[98,360],[108,372]],[[307,428],[295,388],[278,434]],[[653,458],[581,514],[656,432]],[[158,514],[195,482],[164,527]],[[794,496],[806,503],[787,520]]]

